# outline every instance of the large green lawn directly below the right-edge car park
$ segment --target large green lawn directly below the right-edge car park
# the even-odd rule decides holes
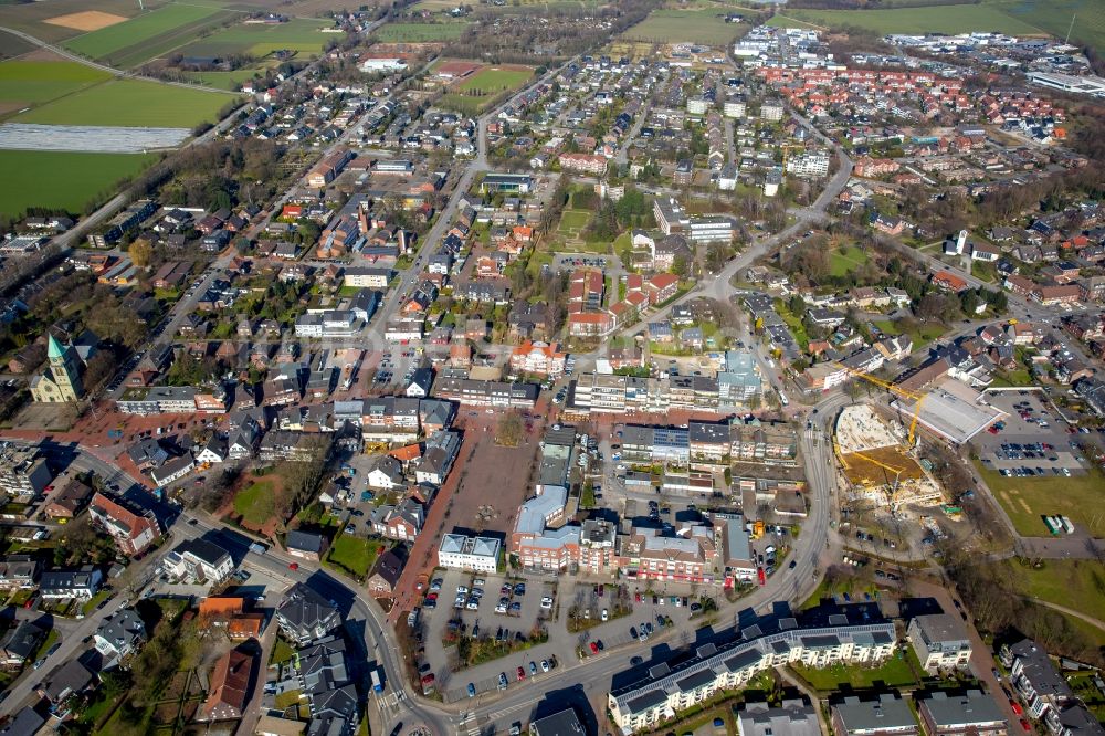
[[[1088,525],[1096,537],[1105,535],[1105,517],[1098,513],[1105,504],[1105,475],[1099,470],[1071,477],[1012,477],[988,470],[979,461],[975,465],[1022,535],[1048,536],[1041,517],[1056,515],[1069,516],[1076,527]]]

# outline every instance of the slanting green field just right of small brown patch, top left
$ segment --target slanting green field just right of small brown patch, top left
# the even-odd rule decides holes
[[[188,43],[202,30],[227,18],[217,7],[165,6],[70,39],[65,48],[116,66],[135,66]]]

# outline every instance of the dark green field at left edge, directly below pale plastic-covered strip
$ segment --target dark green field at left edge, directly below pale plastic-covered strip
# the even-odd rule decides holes
[[[90,201],[106,200],[114,185],[157,160],[141,154],[72,154],[0,150],[0,214],[14,217],[28,207],[59,207],[81,212]]]

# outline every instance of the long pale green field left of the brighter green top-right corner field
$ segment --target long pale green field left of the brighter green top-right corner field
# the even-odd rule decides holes
[[[997,31],[1014,35],[1041,34],[1039,28],[1003,12],[1002,8],[994,3],[941,6],[938,9],[804,10],[796,8],[776,15],[769,22],[771,25],[785,27],[791,20],[803,21],[821,28],[852,25],[876,33]],[[1070,17],[1066,17],[1063,22],[1070,23]]]

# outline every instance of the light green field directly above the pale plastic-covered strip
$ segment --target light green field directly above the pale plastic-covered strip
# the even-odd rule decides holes
[[[179,128],[214,122],[231,97],[156,82],[114,80],[36,107],[14,118],[44,125]]]

